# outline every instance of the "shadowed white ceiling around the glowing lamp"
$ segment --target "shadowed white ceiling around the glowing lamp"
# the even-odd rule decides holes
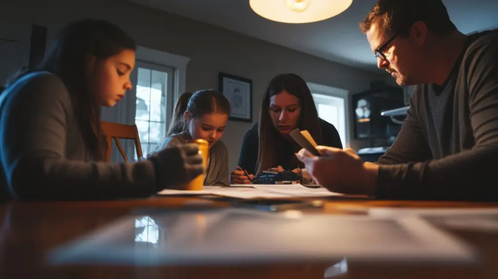
[[[343,13],[306,24],[286,24],[258,16],[249,0],[130,0],[274,44],[351,66],[377,71],[359,22],[376,0],[353,0]],[[498,0],[443,0],[462,32],[498,28]]]

